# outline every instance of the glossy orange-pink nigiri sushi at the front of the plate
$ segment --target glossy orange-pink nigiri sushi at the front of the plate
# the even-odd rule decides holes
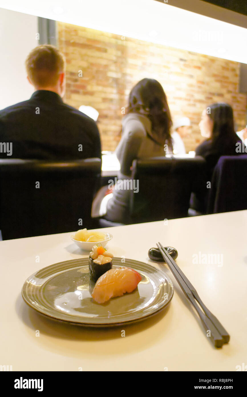
[[[142,276],[130,268],[115,268],[105,272],[94,286],[92,297],[98,303],[104,303],[113,297],[132,292],[140,283]]]

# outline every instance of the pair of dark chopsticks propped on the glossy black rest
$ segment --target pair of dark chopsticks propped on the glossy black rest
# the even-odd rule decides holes
[[[210,331],[210,334],[207,335],[214,342],[215,347],[221,347],[224,343],[228,343],[230,339],[230,335],[224,329],[222,324],[220,324],[218,319],[207,309],[205,304],[201,301],[197,291],[190,283],[188,278],[184,275],[182,270],[178,267],[176,262],[173,260],[170,254],[168,254],[168,252],[161,245],[161,243],[158,243],[157,247],[159,248],[163,256],[163,259],[169,266],[172,274],[174,275],[180,287],[182,288],[182,291],[188,297],[190,302],[193,304],[195,310],[197,311],[199,317],[201,318],[201,321],[203,322],[203,326],[205,327],[207,332]],[[205,313],[203,313],[201,308],[199,308],[196,301],[201,305]]]

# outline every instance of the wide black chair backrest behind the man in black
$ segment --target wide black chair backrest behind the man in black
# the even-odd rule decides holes
[[[69,162],[0,160],[3,239],[90,228],[100,173],[99,158]]]

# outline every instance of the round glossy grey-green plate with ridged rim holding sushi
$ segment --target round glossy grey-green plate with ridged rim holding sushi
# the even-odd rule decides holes
[[[113,326],[143,320],[171,301],[173,285],[162,270],[137,260],[113,258],[113,268],[129,267],[142,275],[132,293],[98,304],[91,297],[88,258],[67,260],[43,268],[22,287],[24,301],[39,313],[84,326]]]

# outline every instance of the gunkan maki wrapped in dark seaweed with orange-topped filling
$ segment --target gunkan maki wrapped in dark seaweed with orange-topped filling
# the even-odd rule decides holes
[[[89,271],[93,281],[97,281],[102,274],[112,269],[113,254],[106,251],[102,245],[94,245],[89,255]]]

